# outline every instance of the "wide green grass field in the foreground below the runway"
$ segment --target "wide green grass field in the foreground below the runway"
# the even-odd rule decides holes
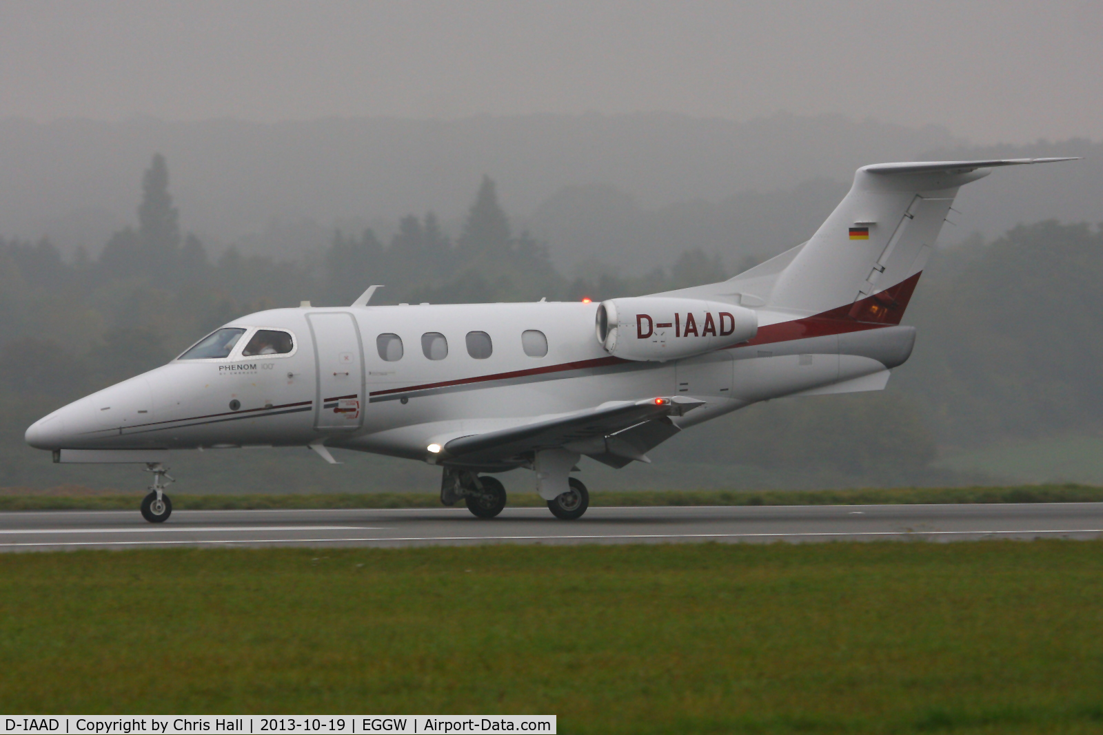
[[[0,555],[0,710],[1099,733],[1103,543]]]

